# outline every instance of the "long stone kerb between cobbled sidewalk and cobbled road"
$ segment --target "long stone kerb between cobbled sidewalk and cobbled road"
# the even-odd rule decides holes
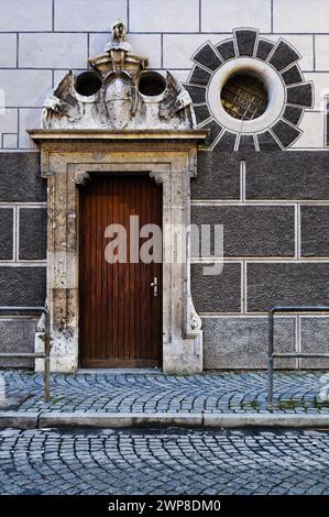
[[[15,413],[0,411],[0,428],[129,428],[178,426],[204,428],[329,428],[329,415],[191,413]]]

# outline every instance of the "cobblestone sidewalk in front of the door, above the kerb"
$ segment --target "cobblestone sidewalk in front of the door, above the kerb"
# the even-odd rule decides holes
[[[200,375],[52,375],[52,400],[43,403],[43,377],[29,371],[2,371],[8,396],[26,395],[20,411],[109,413],[267,413],[266,373]],[[329,373],[279,372],[274,376],[274,410],[329,413]],[[327,398],[327,399],[326,399]]]

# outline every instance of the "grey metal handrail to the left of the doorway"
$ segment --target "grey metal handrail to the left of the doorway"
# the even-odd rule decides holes
[[[45,331],[44,331],[44,352],[3,352],[0,353],[0,359],[3,358],[32,358],[44,360],[44,402],[47,403],[51,398],[51,321],[50,311],[46,307],[0,307],[1,315],[10,314],[28,314],[41,312],[45,315]]]

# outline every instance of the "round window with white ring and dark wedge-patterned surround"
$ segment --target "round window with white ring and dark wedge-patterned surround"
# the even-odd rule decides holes
[[[303,133],[304,111],[314,106],[314,86],[304,79],[300,58],[290,43],[271,42],[251,28],[234,29],[217,44],[205,42],[193,55],[186,89],[197,127],[209,131],[206,146],[290,147]]]

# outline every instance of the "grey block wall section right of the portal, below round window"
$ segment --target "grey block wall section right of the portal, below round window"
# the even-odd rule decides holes
[[[194,257],[191,290],[204,321],[206,369],[265,369],[267,309],[329,305],[329,154],[200,151],[191,222],[223,224],[223,271],[205,276]],[[211,245],[211,254],[213,246]],[[327,350],[329,315],[277,317],[275,349]],[[328,367],[276,360],[276,367]]]

